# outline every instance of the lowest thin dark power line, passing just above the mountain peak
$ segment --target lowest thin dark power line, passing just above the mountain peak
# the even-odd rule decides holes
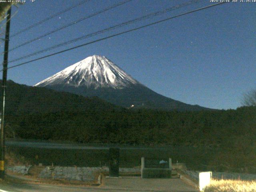
[[[53,53],[53,54],[49,54],[49,55],[46,55],[46,56],[43,56],[43,57],[40,57],[40,58],[37,58],[37,59],[33,59],[33,60],[30,60],[30,61],[27,61],[27,62],[23,62],[23,63],[17,64],[17,65],[8,67],[8,69],[18,67],[18,66],[21,66],[21,65],[24,65],[24,64],[28,64],[30,62],[41,60],[43,58],[54,56],[56,54],[60,54],[60,53],[66,52],[66,51],[70,51],[70,50],[73,50],[73,49],[76,49],[76,48],[79,48],[79,47],[83,47],[83,46],[86,46],[86,45],[89,45],[89,44],[92,44],[92,43],[95,43],[95,42],[99,42],[99,41],[102,41],[102,40],[105,40],[105,39],[109,39],[109,38],[112,38],[112,37],[115,37],[115,36],[119,36],[119,35],[122,35],[122,34],[125,34],[125,33],[128,33],[128,32],[132,32],[132,31],[142,29],[142,28],[145,28],[145,27],[148,27],[148,26],[152,26],[154,24],[158,24],[158,23],[161,23],[161,22],[173,19],[173,18],[177,18],[177,17],[183,16],[183,15],[186,15],[186,14],[190,14],[190,13],[193,13],[193,12],[196,12],[196,11],[200,11],[200,10],[210,8],[210,7],[213,7],[213,6],[217,6],[217,5],[220,5],[220,4],[224,4],[224,3],[226,3],[226,2],[220,2],[220,3],[212,4],[212,5],[209,5],[209,6],[205,6],[203,8],[199,8],[199,9],[192,10],[192,11],[189,11],[189,12],[186,12],[186,13],[182,13],[182,14],[179,14],[179,15],[176,15],[176,16],[172,16],[172,17],[169,17],[169,18],[166,18],[166,19],[163,19],[163,20],[159,20],[157,22],[153,22],[153,23],[150,23],[150,24],[147,24],[147,25],[144,25],[144,26],[140,26],[138,28],[133,28],[133,29],[130,29],[130,30],[127,30],[127,31],[124,31],[124,32],[120,32],[120,33],[111,35],[111,36],[107,36],[107,37],[104,37],[104,38],[101,38],[101,39],[98,39],[98,40],[94,40],[94,41],[91,41],[91,42],[88,42],[88,43],[85,43],[85,44],[81,44],[81,45],[78,45],[78,46],[75,46],[75,47],[72,47],[72,48],[69,48],[69,49],[66,49],[66,50],[62,50],[62,51],[59,51],[59,52],[56,52],[56,53]],[[0,70],[0,72],[1,71],[3,71],[3,70]]]

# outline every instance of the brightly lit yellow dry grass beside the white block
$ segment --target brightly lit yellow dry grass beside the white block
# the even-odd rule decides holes
[[[212,180],[204,192],[256,192],[256,181]]]

